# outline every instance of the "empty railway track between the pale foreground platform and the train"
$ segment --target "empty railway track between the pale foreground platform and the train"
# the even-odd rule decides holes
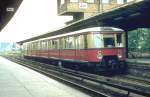
[[[138,84],[141,83],[138,79],[136,79],[136,81],[125,81],[121,80],[123,78],[119,78],[119,76],[104,77],[64,68],[60,69],[59,67],[55,67],[53,65],[26,59],[18,59],[13,57],[7,58],[48,76],[55,77],[69,84],[83,88],[95,95],[98,95],[97,97],[150,97],[150,87],[146,86],[148,83],[144,83],[143,81],[145,85]]]

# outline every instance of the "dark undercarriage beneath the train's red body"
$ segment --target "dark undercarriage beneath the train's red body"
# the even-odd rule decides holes
[[[55,65],[59,68],[67,68],[99,75],[124,74],[127,72],[126,62],[119,61],[116,56],[105,56],[101,62],[87,62],[35,56],[24,56],[24,58]]]

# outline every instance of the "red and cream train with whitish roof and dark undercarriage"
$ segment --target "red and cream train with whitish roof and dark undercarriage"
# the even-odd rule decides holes
[[[23,43],[25,58],[89,72],[126,70],[125,33],[92,27]]]

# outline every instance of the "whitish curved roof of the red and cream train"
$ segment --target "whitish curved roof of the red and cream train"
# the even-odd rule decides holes
[[[82,30],[77,30],[77,31],[73,31],[73,32],[67,32],[65,34],[60,33],[58,35],[47,35],[47,37],[33,37],[31,39],[27,39],[27,40],[23,40],[20,42],[17,42],[19,44],[23,44],[26,42],[33,42],[33,41],[38,41],[38,40],[44,40],[44,39],[52,39],[52,38],[58,38],[58,37],[63,37],[63,36],[67,36],[67,35],[74,35],[74,34],[79,34],[79,33],[86,33],[86,32],[104,32],[104,33],[109,33],[109,32],[123,32],[122,29],[119,28],[114,28],[114,27],[91,27],[91,28],[86,28],[86,29],[82,29]]]

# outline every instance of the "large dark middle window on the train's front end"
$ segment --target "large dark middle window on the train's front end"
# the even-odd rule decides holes
[[[108,47],[108,48],[111,48],[111,47],[115,47],[115,37],[114,35],[104,35],[104,47]]]

